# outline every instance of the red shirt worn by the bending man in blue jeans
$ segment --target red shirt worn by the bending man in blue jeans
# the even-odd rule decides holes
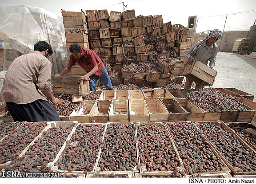
[[[86,72],[90,72],[96,65],[98,65],[99,70],[96,71],[96,75],[99,76],[104,70],[104,64],[102,63],[100,57],[92,49],[82,48],[83,56],[81,59],[76,59],[74,55],[70,56],[68,63],[69,67],[73,67],[76,62],[82,67]]]

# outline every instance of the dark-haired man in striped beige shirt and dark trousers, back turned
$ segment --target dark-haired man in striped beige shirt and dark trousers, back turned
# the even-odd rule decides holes
[[[62,103],[51,92],[50,55],[51,45],[39,41],[34,45],[34,51],[17,57],[8,68],[1,98],[4,98],[14,121],[60,121],[58,113],[45,98],[56,105]]]

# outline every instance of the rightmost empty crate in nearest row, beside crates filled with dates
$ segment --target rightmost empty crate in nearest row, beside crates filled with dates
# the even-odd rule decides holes
[[[177,99],[177,102],[187,110],[187,120],[186,121],[203,121],[204,111],[198,108],[193,102],[188,99]]]

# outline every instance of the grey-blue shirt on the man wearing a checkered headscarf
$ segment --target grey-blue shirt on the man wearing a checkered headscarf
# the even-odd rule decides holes
[[[192,58],[204,63],[205,65],[208,65],[208,60],[210,60],[209,67],[214,67],[216,62],[216,55],[218,53],[218,46],[216,43],[212,44],[211,46],[207,47],[206,42],[199,47],[196,51],[192,50],[196,48],[203,40],[200,40],[196,42],[186,53],[186,59],[188,59],[190,56]]]

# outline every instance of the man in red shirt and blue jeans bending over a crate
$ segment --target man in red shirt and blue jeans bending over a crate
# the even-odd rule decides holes
[[[71,52],[68,67],[64,68],[60,74],[55,74],[55,76],[61,76],[70,71],[70,69],[78,63],[87,74],[84,75],[86,80],[91,79],[90,90],[96,91],[95,84],[98,79],[100,79],[106,90],[112,90],[113,86],[111,80],[108,76],[108,71],[105,69],[100,57],[92,49],[82,49],[77,43],[72,43],[69,46],[69,51]]]

